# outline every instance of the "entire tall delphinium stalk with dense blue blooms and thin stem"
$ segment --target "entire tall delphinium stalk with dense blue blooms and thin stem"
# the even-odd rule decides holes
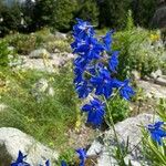
[[[76,19],[76,21],[77,23],[73,27],[74,42],[71,44],[73,53],[77,54],[74,60],[75,91],[80,98],[85,98],[91,93],[95,94],[95,97],[83,105],[81,110],[87,114],[86,123],[100,127],[107,107],[111,121],[108,126],[113,127],[115,139],[118,143],[107,100],[114,100],[115,90],[115,95],[120,93],[125,100],[129,100],[134,95],[134,91],[128,85],[128,80],[120,81],[113,76],[114,73],[117,73],[120,53],[112,50],[113,31],[108,31],[98,40],[90,22],[81,19]],[[104,96],[104,100],[102,101],[100,96]],[[120,143],[118,151],[123,157]]]

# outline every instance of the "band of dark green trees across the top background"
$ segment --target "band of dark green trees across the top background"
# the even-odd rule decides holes
[[[4,1],[4,2],[3,2]],[[69,31],[75,18],[95,23],[98,28],[125,28],[128,10],[132,10],[134,24],[153,28],[152,19],[160,0],[25,0],[24,3],[6,0],[0,2],[1,37],[11,31],[32,32],[43,27]],[[9,23],[10,22],[10,23]]]

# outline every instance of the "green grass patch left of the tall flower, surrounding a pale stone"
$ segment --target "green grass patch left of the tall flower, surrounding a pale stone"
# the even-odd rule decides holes
[[[34,70],[6,73],[9,91],[1,94],[1,102],[8,105],[0,113],[0,127],[15,127],[32,135],[49,146],[63,151],[68,137],[64,133],[74,127],[77,97],[75,96],[72,72],[63,69],[60,74]],[[39,79],[50,80],[55,95],[43,96],[38,103],[30,93]]]

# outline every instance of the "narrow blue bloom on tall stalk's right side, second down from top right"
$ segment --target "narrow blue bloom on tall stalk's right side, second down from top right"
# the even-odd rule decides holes
[[[112,72],[116,72],[117,65],[118,65],[118,51],[114,51],[108,61],[108,68]]]

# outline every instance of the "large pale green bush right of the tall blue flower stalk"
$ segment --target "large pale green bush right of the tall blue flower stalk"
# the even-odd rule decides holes
[[[133,70],[141,73],[141,76],[149,75],[162,64],[162,52],[151,39],[148,31],[137,28],[115,34],[114,48],[121,50],[118,73],[131,75]]]

